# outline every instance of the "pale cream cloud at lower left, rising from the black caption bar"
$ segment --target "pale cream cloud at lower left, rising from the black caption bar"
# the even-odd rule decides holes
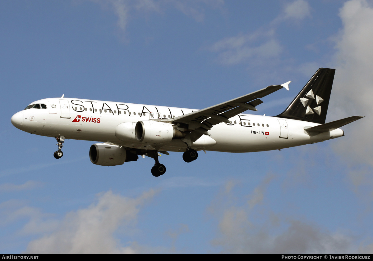
[[[98,195],[97,203],[70,212],[49,235],[28,244],[27,253],[135,253],[144,247],[127,246],[113,236],[119,227],[130,229],[137,222],[140,207],[154,196],[150,190],[138,198],[115,195],[111,191]],[[122,229],[122,230],[123,230]],[[147,250],[149,251],[149,250]]]

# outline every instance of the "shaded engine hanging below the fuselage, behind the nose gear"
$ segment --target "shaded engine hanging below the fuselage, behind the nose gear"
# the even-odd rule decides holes
[[[128,161],[136,161],[138,156],[124,147],[112,144],[97,143],[90,148],[90,160],[100,166],[122,165]]]

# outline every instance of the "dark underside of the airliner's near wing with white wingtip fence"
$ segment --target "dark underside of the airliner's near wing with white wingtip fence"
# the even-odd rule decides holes
[[[214,125],[219,124],[220,122],[231,123],[228,120],[229,118],[247,111],[248,109],[257,111],[256,106],[263,103],[259,98],[263,98],[272,92],[276,92],[276,90],[279,90],[282,87],[289,90],[290,82],[291,81],[282,85],[271,85],[230,101],[176,117],[172,120],[172,123],[178,124],[178,126],[181,127],[183,125],[186,127],[187,124],[189,131],[196,130],[201,134],[209,135],[207,134],[207,131]]]

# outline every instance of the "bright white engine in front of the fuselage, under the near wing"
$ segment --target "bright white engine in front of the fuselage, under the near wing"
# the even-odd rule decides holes
[[[136,139],[145,143],[160,144],[185,137],[170,123],[159,121],[139,121],[135,127]]]

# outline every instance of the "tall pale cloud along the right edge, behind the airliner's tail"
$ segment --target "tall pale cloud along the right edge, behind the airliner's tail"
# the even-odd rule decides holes
[[[329,115],[332,116],[331,120],[352,115],[366,117],[345,126],[346,136],[332,146],[352,166],[350,179],[355,191],[367,192],[369,198],[373,199],[373,136],[370,135],[373,128],[372,3],[347,1],[340,9],[339,16],[343,27],[335,45],[337,66]],[[370,168],[357,166],[361,163],[366,163]],[[367,190],[362,190],[361,186]]]

